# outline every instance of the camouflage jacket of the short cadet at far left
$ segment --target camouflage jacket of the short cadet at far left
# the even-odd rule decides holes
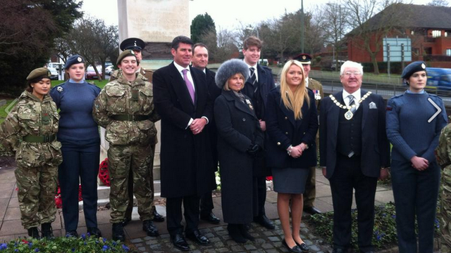
[[[22,167],[58,166],[63,161],[59,141],[30,143],[22,140],[28,135],[56,135],[58,121],[56,105],[50,96],[44,96],[41,101],[24,91],[0,126],[0,141],[6,150],[16,152],[16,162]]]

